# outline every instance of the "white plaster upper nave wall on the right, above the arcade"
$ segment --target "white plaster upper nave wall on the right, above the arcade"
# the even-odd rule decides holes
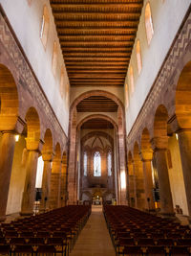
[[[130,65],[134,69],[135,91],[131,92],[129,69],[125,84],[128,90],[125,90],[125,107],[126,107],[126,130],[127,135],[133,127],[138,112],[143,105],[154,81],[156,80],[159,69],[170,49],[174,38],[180,28],[181,22],[190,6],[190,0],[150,0],[154,35],[150,45],[147,43],[144,12],[148,1],[144,1],[140,21],[138,25],[138,33],[130,60]],[[137,41],[140,41],[142,70],[138,76],[138,66],[136,57]]]

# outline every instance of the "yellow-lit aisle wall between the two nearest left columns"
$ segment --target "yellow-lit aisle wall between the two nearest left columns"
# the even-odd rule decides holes
[[[15,144],[14,156],[11,170],[11,182],[7,203],[6,214],[20,212],[23,191],[25,185],[26,169],[25,169],[25,154],[23,150],[26,142],[24,136],[20,136],[19,141]]]

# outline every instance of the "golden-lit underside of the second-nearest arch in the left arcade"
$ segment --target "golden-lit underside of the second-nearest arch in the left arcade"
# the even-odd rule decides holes
[[[28,109],[25,120],[27,122],[27,149],[37,150],[40,141],[40,120],[34,107]]]

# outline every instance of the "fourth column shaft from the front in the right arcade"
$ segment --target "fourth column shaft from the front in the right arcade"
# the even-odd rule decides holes
[[[136,206],[139,210],[145,209],[145,194],[142,163],[139,159],[134,159],[134,174],[136,183]]]

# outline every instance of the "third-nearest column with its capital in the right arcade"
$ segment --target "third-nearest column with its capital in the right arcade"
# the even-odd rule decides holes
[[[144,191],[145,191],[145,206],[148,210],[155,209],[153,201],[153,179],[151,161],[153,159],[153,151],[141,151],[141,161],[144,175]]]

